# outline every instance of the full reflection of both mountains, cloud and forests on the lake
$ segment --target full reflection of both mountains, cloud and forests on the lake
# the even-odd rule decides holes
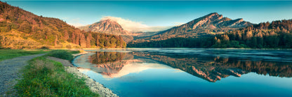
[[[221,78],[241,77],[257,73],[275,77],[291,77],[292,64],[288,61],[242,59],[238,57],[202,56],[200,54],[178,55],[159,52],[94,52],[88,58],[91,70],[104,77],[121,77],[139,73],[150,68],[178,68],[208,82]],[[159,63],[147,64],[145,63]],[[168,67],[170,66],[170,67]]]

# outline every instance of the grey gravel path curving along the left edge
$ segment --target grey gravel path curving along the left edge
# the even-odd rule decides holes
[[[0,96],[7,96],[6,91],[13,91],[16,79],[20,77],[18,71],[27,65],[27,61],[44,54],[34,54],[0,61]]]

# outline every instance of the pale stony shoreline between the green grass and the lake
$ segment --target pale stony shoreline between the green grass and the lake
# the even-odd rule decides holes
[[[88,54],[88,52],[81,52],[78,54],[72,54],[74,56],[74,59],[77,58],[78,56],[81,56],[83,54]],[[95,80],[91,79],[84,73],[81,73],[76,66],[72,64],[72,61],[67,61],[65,59],[59,59],[59,58],[50,58],[47,57],[47,59],[51,59],[53,61],[58,61],[60,63],[65,63],[63,66],[65,67],[65,71],[67,73],[72,73],[73,75],[77,76],[78,78],[84,78],[86,85],[93,91],[94,93],[100,94],[102,97],[119,97],[117,94],[114,94],[112,90],[108,89],[107,87],[104,87],[102,84],[99,82],[96,82]]]

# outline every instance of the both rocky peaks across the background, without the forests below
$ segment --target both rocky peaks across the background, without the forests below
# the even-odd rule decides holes
[[[148,34],[148,32],[131,33],[124,30],[119,23],[110,19],[100,20],[99,22],[95,22],[85,27],[79,27],[79,29],[84,31],[122,35],[124,36],[124,40],[128,43],[137,38],[142,38],[142,40],[164,40],[175,37],[194,37],[203,34],[215,34],[219,31],[229,31],[251,25],[252,24],[250,22],[245,22],[243,19],[231,20],[228,17],[223,17],[223,15],[218,15],[218,13],[211,13],[204,17],[199,17],[196,20],[192,20],[191,22],[187,22],[186,24],[182,24],[179,27],[173,27],[160,32],[152,32],[152,34]],[[135,38],[132,36],[135,36]],[[148,37],[145,38],[145,36]]]

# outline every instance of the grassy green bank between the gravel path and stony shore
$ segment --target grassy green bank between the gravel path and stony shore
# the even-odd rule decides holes
[[[62,64],[45,57],[29,61],[15,89],[19,96],[98,96],[86,86],[84,79],[65,72]]]

